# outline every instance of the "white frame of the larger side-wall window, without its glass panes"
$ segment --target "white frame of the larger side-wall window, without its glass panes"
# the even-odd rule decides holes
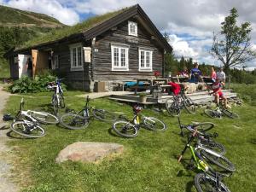
[[[79,51],[78,49],[81,49],[81,65],[79,66]],[[73,49],[76,50],[76,55],[73,55]],[[83,71],[84,70],[84,49],[82,44],[71,44],[69,45],[70,50],[70,70],[71,71]],[[75,57],[74,57],[75,56]],[[74,63],[73,59],[76,59],[76,62]]]

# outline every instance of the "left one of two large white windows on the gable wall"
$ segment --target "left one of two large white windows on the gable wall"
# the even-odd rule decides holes
[[[112,44],[112,71],[128,71],[128,49],[127,45]]]

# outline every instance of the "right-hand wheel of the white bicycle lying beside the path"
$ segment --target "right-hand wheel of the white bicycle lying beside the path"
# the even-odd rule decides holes
[[[59,119],[50,113],[32,111],[31,115],[34,119],[37,119],[39,122],[44,124],[57,124],[59,123]]]

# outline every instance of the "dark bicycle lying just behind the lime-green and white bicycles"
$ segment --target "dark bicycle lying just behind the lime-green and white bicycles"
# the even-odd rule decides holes
[[[183,137],[184,133],[183,130],[188,130],[189,132],[193,133],[195,129],[197,130],[197,138],[200,142],[201,146],[204,146],[206,148],[209,148],[218,154],[225,154],[226,150],[224,148],[224,145],[221,143],[216,143],[212,137],[218,137],[218,133],[214,132],[213,134],[208,133],[208,131],[212,130],[214,127],[214,124],[211,122],[192,122],[192,124],[189,125],[182,125],[180,121],[180,117],[177,117],[179,128],[180,128],[180,135]]]

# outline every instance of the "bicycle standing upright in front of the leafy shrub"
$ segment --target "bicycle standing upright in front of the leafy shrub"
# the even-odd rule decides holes
[[[64,94],[61,88],[61,81],[63,79],[56,79],[55,82],[49,82],[47,88],[54,90],[55,93],[51,98],[51,104],[53,106],[54,112],[57,115],[59,108],[65,108]]]

